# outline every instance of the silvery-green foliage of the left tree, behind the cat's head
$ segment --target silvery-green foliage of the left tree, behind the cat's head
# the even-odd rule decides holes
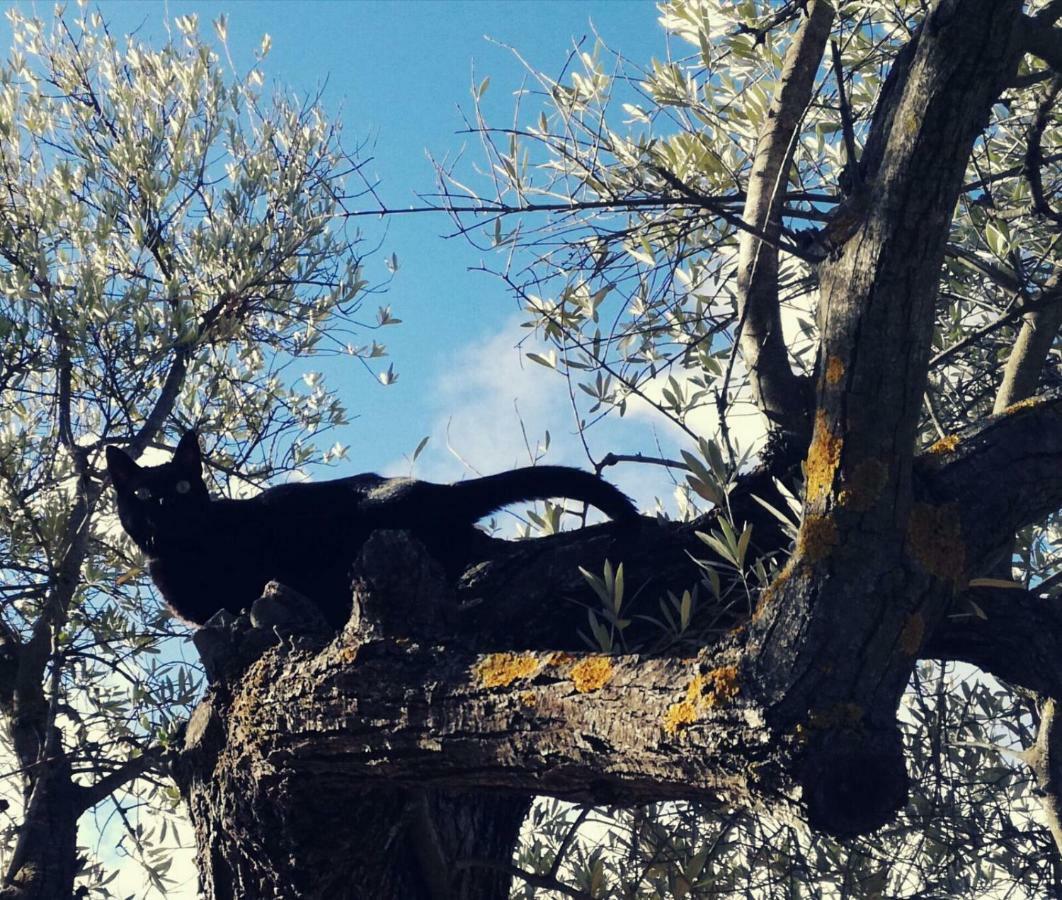
[[[320,461],[314,436],[344,410],[304,360],[367,363],[386,351],[355,345],[350,329],[397,320],[355,318],[369,286],[342,214],[358,164],[316,98],[263,92],[268,36],[234,75],[224,18],[218,44],[186,16],[156,49],[84,9],[50,23],[7,16],[0,644],[11,659],[47,642],[30,674],[47,704],[37,725],[58,727],[80,783],[107,787],[112,776],[100,843],[124,833],[119,852],[165,893],[175,798],[165,780],[131,779],[172,740],[201,682],[117,527],[103,447],[153,452],[199,426],[219,487],[244,473],[236,490]],[[10,720],[25,697],[10,673],[2,680]],[[37,752],[17,736],[10,749],[6,861]],[[84,883],[107,895],[101,856],[87,857]]]

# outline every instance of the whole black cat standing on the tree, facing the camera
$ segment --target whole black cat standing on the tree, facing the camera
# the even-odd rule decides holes
[[[147,555],[151,577],[177,615],[200,625],[221,606],[249,608],[276,580],[341,627],[350,613],[350,564],[378,528],[412,531],[457,575],[489,543],[475,523],[509,504],[570,497],[615,520],[638,515],[607,481],[561,465],[456,485],[364,474],[280,485],[250,499],[211,499],[194,431],[161,465],[138,465],[108,446],[107,470],[122,526]]]

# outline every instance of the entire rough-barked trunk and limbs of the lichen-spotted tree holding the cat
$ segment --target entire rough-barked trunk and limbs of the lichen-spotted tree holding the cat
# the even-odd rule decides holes
[[[828,10],[809,7],[748,194],[747,217],[765,235],[808,102],[798,82],[815,67],[795,55],[825,43]],[[696,579],[687,549],[706,555],[692,532],[710,515],[499,547],[456,591],[408,538],[377,533],[356,564],[342,634],[292,633],[299,616],[284,614],[282,627],[259,614],[207,631],[222,662],[177,775],[208,897],[503,897],[536,793],[723,797],[864,833],[906,798],[895,711],[918,659],[967,660],[1059,698],[1062,609],[971,580],[1018,528],[1062,507],[1062,394],[1004,404],[921,456],[915,446],[972,143],[1022,53],[1057,46],[1042,30],[1032,41],[1020,9],[940,0],[897,56],[860,193],[817,244],[813,408],[790,408],[804,392],[768,284],[774,251],[743,239],[741,346],[757,397],[781,428],[799,431],[805,417],[812,428],[799,539],[753,614],[696,652],[604,657],[571,644],[585,616],[577,564],[622,560],[628,583],[655,602]],[[768,550],[785,540],[751,494],[770,491],[770,474],[732,496]],[[987,619],[945,615],[967,592]],[[279,593],[272,604],[293,602]],[[274,635],[279,645],[262,652]],[[1045,732],[1044,746],[1055,743]]]

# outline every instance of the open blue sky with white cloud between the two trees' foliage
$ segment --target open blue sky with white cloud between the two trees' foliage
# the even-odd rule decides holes
[[[551,74],[560,72],[573,39],[585,36],[589,49],[595,29],[610,47],[640,65],[662,57],[666,47],[655,5],[647,0],[109,0],[99,9],[114,33],[136,31],[148,43],[165,39],[166,17],[196,13],[202,32],[210,35],[210,21],[224,13],[228,47],[241,71],[252,64],[262,34],[270,34],[272,50],[263,66],[268,82],[299,92],[324,85],[327,108],[342,119],[344,142],[354,148],[372,141],[370,171],[378,177],[388,205],[399,207],[415,203],[417,192],[433,189],[429,152],[444,157],[467,145],[467,158],[479,158],[476,138],[458,134],[464,126],[461,111],[470,111],[474,79],[479,83],[490,75],[486,112],[494,121],[512,121],[513,91],[520,87],[525,70],[499,44],[516,48],[532,66]],[[536,112],[529,106],[526,115]],[[371,281],[387,276],[384,259],[390,254],[399,261],[389,292],[367,302],[371,310],[377,303],[389,304],[402,320],[376,335],[387,343],[399,378],[383,388],[349,360],[325,367],[347,410],[357,417],[337,436],[350,447],[349,463],[330,474],[408,472],[402,455],[427,435],[432,440],[417,462],[421,477],[458,478],[526,464],[530,460],[517,408],[529,443],[550,430],[549,461],[585,465],[571,437],[564,381],[545,370],[520,369],[512,347],[525,333],[517,326],[515,302],[499,282],[469,271],[481,262],[478,251],[462,238],[442,237],[450,228],[448,218],[372,218],[363,220],[363,227],[370,243],[383,236],[382,252],[367,261]],[[538,368],[526,363],[525,370],[527,366]],[[646,431],[627,429],[630,440],[610,437],[613,443],[602,441],[596,454],[654,452],[652,436],[645,445],[645,435],[634,437],[638,430]],[[453,453],[446,449],[447,442]],[[635,442],[643,445],[633,446]],[[661,473],[654,474],[658,481]],[[667,492],[666,482],[661,489]],[[645,502],[651,498],[645,491],[635,493]]]

